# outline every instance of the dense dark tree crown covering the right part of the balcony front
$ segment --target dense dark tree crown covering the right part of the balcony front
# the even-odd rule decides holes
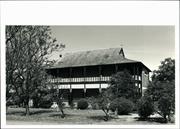
[[[112,98],[124,97],[133,100],[135,98],[135,84],[130,73],[125,70],[112,75],[109,92]]]

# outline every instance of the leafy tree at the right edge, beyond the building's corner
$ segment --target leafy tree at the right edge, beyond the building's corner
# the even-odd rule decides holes
[[[156,113],[160,114],[165,121],[167,116],[175,111],[175,83],[172,82],[152,82],[148,86],[146,94],[150,96],[155,104]]]

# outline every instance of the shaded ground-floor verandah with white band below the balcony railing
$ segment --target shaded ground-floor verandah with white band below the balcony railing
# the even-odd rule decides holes
[[[71,105],[81,98],[97,97],[102,91],[109,87],[109,83],[101,84],[56,84],[58,93],[62,99]],[[137,88],[137,95],[141,97],[141,87]]]

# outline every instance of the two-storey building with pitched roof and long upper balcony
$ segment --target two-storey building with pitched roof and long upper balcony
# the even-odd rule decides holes
[[[142,95],[149,82],[149,72],[142,62],[125,57],[122,48],[99,49],[67,53],[47,69],[50,84],[66,91],[69,103],[82,97],[96,96],[109,86],[112,74],[128,70],[135,80],[135,88]]]

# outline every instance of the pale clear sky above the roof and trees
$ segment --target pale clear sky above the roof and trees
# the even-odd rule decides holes
[[[66,45],[63,53],[121,48],[125,57],[152,71],[167,57],[175,58],[174,26],[51,26],[52,36]],[[53,58],[59,58],[54,53]]]

